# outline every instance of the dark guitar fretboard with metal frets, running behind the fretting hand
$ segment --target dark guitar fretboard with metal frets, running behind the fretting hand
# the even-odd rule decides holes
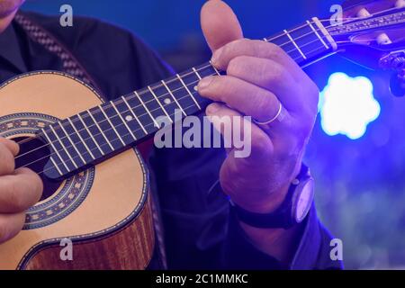
[[[317,18],[264,40],[280,46],[301,67],[337,49]],[[47,176],[72,175],[148,139],[163,122],[202,112],[211,101],[198,94],[198,82],[221,73],[208,62],[44,128],[41,138],[58,151]]]

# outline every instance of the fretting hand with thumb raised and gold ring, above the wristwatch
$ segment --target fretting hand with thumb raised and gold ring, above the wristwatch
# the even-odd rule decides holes
[[[300,171],[318,112],[318,87],[283,49],[243,39],[236,16],[220,0],[202,8],[202,31],[213,66],[227,72],[204,78],[198,86],[202,96],[216,102],[208,106],[209,116],[248,115],[266,122],[278,114],[280,103],[283,107],[270,124],[252,122],[250,157],[234,157],[231,149],[220,169],[220,184],[233,202],[247,211],[275,211]],[[254,241],[266,239],[263,231],[242,226]],[[266,250],[266,243],[257,246]]]

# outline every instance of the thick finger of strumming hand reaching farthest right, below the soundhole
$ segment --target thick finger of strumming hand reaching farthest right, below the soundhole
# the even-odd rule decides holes
[[[26,211],[40,200],[43,185],[40,177],[27,168],[14,175],[0,177],[0,213]]]

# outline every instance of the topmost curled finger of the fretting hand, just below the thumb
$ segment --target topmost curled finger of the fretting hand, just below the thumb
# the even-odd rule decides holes
[[[294,76],[301,76],[301,68],[290,58],[284,49],[263,40],[235,40],[217,49],[212,55],[212,64],[226,71],[229,62],[239,56],[267,58],[286,67]]]

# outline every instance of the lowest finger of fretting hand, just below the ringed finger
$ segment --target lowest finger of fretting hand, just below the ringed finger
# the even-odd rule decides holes
[[[206,109],[206,114],[214,128],[220,131],[225,143],[228,143],[231,148],[249,149],[249,157],[266,157],[273,153],[273,143],[266,132],[251,121],[245,120],[240,113],[224,104],[211,103]],[[237,121],[239,123],[235,125]],[[242,139],[244,146],[236,145],[235,139]]]

